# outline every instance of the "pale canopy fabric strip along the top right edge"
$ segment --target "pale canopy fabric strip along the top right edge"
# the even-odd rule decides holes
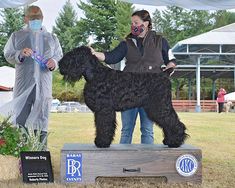
[[[122,0],[133,4],[153,6],[178,6],[196,10],[225,10],[234,9],[234,0]]]

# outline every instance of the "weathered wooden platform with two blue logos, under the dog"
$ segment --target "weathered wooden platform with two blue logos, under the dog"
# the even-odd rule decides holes
[[[63,183],[95,183],[97,177],[162,177],[167,183],[201,183],[201,150],[190,145],[65,144],[61,150]]]

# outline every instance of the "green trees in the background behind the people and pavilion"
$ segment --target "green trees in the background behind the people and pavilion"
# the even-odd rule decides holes
[[[136,10],[132,4],[119,0],[80,1],[77,6],[79,11],[84,13],[84,17],[78,18],[74,6],[70,0],[67,0],[53,27],[53,33],[59,38],[64,53],[76,46],[89,45],[91,42],[92,46],[99,51],[113,49],[130,32],[131,14]],[[11,33],[23,27],[24,11],[21,8],[3,9],[0,14],[2,17],[0,22],[0,66],[3,66],[7,64],[3,57],[3,48]],[[187,10],[173,6],[166,7],[163,11],[156,9],[152,20],[154,30],[161,32],[173,46],[180,40],[233,23],[235,13],[226,10]],[[9,64],[7,65],[9,66]],[[172,80],[172,82],[173,91],[180,88],[186,92],[187,81],[185,79]],[[205,88],[211,87],[209,81],[204,82]],[[58,72],[55,72],[53,96],[62,100],[81,101],[83,84],[84,81],[71,86],[62,80]],[[229,84],[229,82],[225,84]]]

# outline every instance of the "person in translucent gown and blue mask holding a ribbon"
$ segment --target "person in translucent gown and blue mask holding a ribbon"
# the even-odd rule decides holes
[[[12,33],[4,56],[15,65],[15,123],[47,136],[52,99],[52,71],[58,67],[62,49],[57,37],[42,26],[43,14],[38,6],[27,8],[26,27]],[[23,96],[23,97],[22,97]],[[19,99],[19,100],[18,100]]]

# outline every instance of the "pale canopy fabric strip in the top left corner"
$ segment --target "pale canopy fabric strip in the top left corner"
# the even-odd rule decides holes
[[[37,0],[0,0],[0,8],[15,8],[25,6]]]

